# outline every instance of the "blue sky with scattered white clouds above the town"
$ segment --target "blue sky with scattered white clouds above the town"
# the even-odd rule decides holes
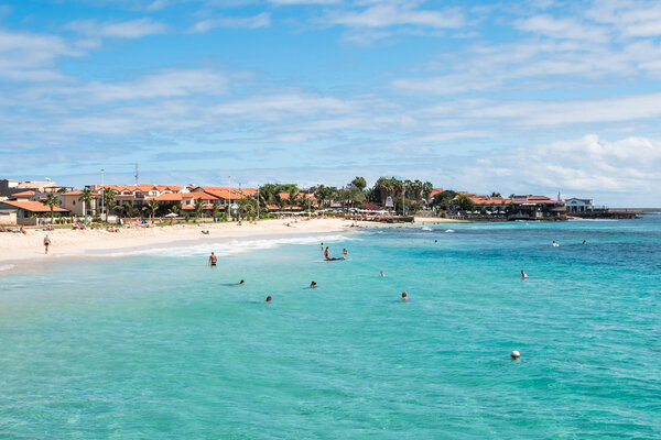
[[[661,2],[0,1],[0,176],[661,206]]]

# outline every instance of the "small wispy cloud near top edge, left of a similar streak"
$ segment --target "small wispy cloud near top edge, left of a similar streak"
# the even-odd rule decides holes
[[[87,36],[110,38],[141,38],[160,34],[167,26],[152,19],[137,19],[123,22],[98,22],[96,20],[76,20],[66,24],[65,29]]]

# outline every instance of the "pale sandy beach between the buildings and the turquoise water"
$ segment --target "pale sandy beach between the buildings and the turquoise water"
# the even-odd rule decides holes
[[[288,227],[286,224],[291,224]],[[305,235],[311,233],[348,232],[351,222],[344,219],[314,219],[289,222],[283,220],[262,220],[258,223],[178,224],[150,228],[123,228],[120,232],[106,230],[54,231],[28,230],[28,235],[18,233],[0,234],[0,267],[25,263],[42,263],[48,260],[83,256],[113,256],[126,251],[147,250],[163,245],[189,245],[217,242],[218,240],[249,240],[273,235]],[[208,230],[208,234],[203,234]],[[43,240],[51,239],[52,245],[46,255]]]

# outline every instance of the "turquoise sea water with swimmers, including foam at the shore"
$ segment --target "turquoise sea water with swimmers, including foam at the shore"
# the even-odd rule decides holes
[[[0,438],[659,439],[660,273],[659,216],[8,266]]]

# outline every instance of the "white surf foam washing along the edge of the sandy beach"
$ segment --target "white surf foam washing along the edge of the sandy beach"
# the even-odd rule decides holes
[[[280,239],[256,239],[256,240],[232,240],[225,242],[207,242],[195,245],[150,248],[133,251],[110,252],[98,254],[96,256],[132,256],[132,255],[161,255],[161,256],[198,256],[207,255],[214,252],[218,256],[235,255],[246,252],[274,249],[281,244],[318,244],[321,242],[332,243],[337,241],[354,241],[356,239],[347,235],[322,235],[322,237],[299,237]]]

